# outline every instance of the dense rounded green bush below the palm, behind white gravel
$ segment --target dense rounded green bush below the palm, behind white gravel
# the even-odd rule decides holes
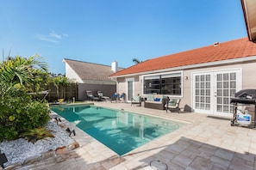
[[[47,102],[22,97],[5,96],[0,99],[0,142],[14,140],[23,132],[44,126],[49,121]]]

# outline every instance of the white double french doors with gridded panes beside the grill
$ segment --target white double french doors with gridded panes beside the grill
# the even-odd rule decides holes
[[[196,112],[231,116],[230,97],[240,90],[240,70],[193,74],[193,107]]]

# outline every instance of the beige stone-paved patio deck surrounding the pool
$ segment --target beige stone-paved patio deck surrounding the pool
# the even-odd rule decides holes
[[[190,122],[178,131],[159,137],[151,143],[134,149],[126,155],[116,155],[78,128],[73,137],[78,149],[56,155],[43,161],[28,163],[18,169],[145,169],[152,170],[151,161],[163,161],[168,169],[256,169],[256,131],[230,126],[231,118],[214,117],[195,112],[168,112],[126,103],[95,102],[125,111],[139,112],[161,118]],[[0,168],[1,169],[1,168]]]

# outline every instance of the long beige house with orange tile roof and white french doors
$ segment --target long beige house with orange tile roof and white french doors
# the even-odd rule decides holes
[[[189,111],[231,116],[230,97],[256,88],[255,72],[256,44],[242,38],[148,59],[109,77],[128,99],[165,94],[181,98],[181,107]]]

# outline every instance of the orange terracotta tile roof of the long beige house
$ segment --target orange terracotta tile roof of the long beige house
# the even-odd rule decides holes
[[[248,38],[219,43],[218,46],[204,46],[186,52],[148,59],[110,76],[124,76],[140,72],[175,68],[192,64],[204,64],[234,58],[256,56],[256,44]]]

